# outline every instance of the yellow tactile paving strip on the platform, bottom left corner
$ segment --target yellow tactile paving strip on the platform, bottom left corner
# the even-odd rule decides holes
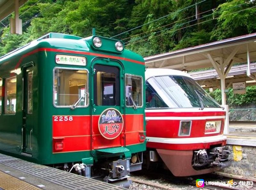
[[[4,190],[39,190],[40,188],[33,186],[25,181],[12,177],[0,171],[0,188]]]

